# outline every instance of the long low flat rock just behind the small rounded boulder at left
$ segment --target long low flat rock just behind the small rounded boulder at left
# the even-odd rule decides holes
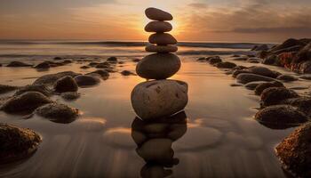
[[[76,77],[77,75],[79,74],[72,72],[72,71],[65,71],[65,72],[60,72],[56,74],[48,74],[43,77],[37,78],[34,84],[54,85],[54,83],[61,77],[65,77],[65,76]]]

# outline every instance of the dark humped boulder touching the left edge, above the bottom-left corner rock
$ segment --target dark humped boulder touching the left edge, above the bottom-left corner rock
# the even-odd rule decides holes
[[[5,101],[1,109],[12,114],[31,113],[36,108],[51,102],[52,100],[43,93],[27,92]]]

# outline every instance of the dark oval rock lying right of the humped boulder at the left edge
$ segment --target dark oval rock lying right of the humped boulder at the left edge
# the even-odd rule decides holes
[[[36,109],[36,114],[49,118],[52,122],[67,124],[79,116],[79,110],[70,108],[64,104],[52,102]]]

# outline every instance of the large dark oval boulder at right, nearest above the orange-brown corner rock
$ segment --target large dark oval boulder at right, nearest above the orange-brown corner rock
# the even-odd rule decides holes
[[[255,119],[269,128],[283,129],[307,122],[307,116],[289,105],[269,106],[259,110]]]

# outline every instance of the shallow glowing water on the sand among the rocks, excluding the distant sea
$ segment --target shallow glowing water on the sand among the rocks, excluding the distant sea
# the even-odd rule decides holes
[[[197,57],[180,56],[182,68],[172,77],[187,82],[189,101],[185,109],[187,132],[172,143],[179,164],[171,168],[171,177],[285,177],[274,148],[293,128],[272,130],[260,125],[253,119],[259,97],[243,87],[231,87],[235,78],[225,75],[224,70],[195,62]],[[136,63],[127,58],[121,60],[125,64],[116,69],[134,70]],[[94,70],[79,69],[83,65],[75,62],[47,71],[3,67],[0,81],[6,85],[28,85],[48,73]],[[1,122],[29,127],[43,137],[31,158],[0,166],[0,177],[139,177],[146,163],[137,154],[131,135],[135,113],[130,94],[143,81],[137,76],[113,73],[100,85],[80,88],[82,96],[76,101],[53,96],[56,101],[80,109],[81,117],[70,124],[36,116],[25,120],[0,112]]]

